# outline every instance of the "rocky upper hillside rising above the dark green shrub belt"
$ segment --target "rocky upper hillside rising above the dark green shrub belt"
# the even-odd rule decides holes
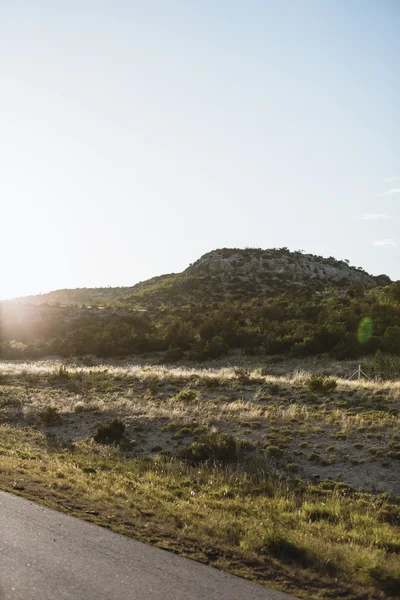
[[[25,300],[35,304],[152,308],[268,298],[286,290],[388,285],[361,267],[333,257],[323,258],[287,248],[261,250],[223,248],[204,254],[185,271],[160,275],[132,287],[58,290]]]

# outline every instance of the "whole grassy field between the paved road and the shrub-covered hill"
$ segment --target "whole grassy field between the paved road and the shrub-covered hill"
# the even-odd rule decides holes
[[[0,485],[302,598],[394,598],[399,409],[400,382],[1,363]]]

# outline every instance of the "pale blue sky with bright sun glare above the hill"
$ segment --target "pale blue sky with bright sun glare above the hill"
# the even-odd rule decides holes
[[[400,279],[398,0],[0,1],[0,299],[222,247]]]

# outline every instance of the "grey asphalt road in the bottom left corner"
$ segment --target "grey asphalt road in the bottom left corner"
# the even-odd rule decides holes
[[[0,600],[294,600],[0,492]]]

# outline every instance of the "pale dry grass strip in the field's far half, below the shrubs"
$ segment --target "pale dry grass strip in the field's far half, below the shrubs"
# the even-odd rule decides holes
[[[51,427],[64,439],[79,440],[93,434],[96,422],[119,417],[144,454],[154,446],[175,452],[184,438],[194,439],[193,432],[177,433],[188,426],[217,430],[259,451],[278,446],[277,468],[294,464],[304,480],[342,477],[356,489],[400,494],[400,382],[338,379],[334,391],[320,396],[309,392],[309,374],[287,378],[259,369],[38,362],[1,363],[0,374],[3,422]],[[46,410],[58,411],[60,422],[46,424]],[[328,450],[332,445],[335,452]]]

